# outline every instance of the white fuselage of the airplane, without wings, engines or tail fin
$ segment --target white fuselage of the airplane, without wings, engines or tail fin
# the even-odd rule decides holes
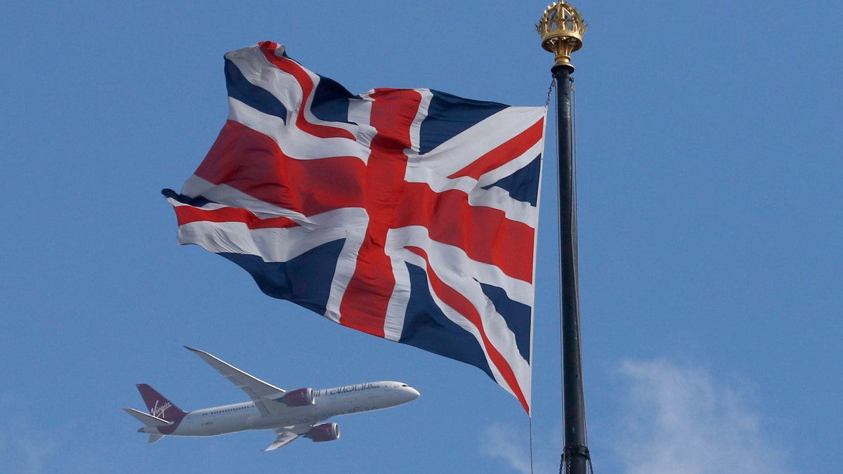
[[[274,429],[295,425],[314,425],[330,417],[372,412],[416,400],[419,392],[394,381],[369,382],[332,389],[314,390],[314,404],[283,407],[273,415],[261,415],[254,401],[188,412],[180,421],[162,427],[144,427],[138,431],[169,436],[216,436],[249,429]],[[267,401],[278,403],[282,401]]]

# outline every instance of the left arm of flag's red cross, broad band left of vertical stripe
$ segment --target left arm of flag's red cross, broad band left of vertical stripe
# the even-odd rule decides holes
[[[293,159],[271,137],[227,121],[196,170],[214,184],[305,216],[362,206],[366,164],[351,156]]]

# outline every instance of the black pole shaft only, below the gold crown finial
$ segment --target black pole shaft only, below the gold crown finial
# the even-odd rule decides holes
[[[573,180],[573,115],[571,66],[551,69],[556,78],[556,126],[559,139],[559,230],[562,299],[562,396],[567,472],[587,474],[588,440],[585,428],[583,361],[579,329],[577,271],[577,201]]]

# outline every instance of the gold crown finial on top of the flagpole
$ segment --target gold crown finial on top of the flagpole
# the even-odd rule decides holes
[[[545,9],[535,30],[541,35],[541,47],[556,55],[553,67],[571,64],[571,53],[583,47],[583,34],[588,24],[583,15],[564,0],[554,2]]]

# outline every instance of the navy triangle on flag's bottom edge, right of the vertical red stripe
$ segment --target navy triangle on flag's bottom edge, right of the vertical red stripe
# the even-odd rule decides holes
[[[398,342],[476,365],[494,379],[477,339],[448,319],[433,300],[427,287],[427,273],[410,263],[406,266],[411,293]]]

